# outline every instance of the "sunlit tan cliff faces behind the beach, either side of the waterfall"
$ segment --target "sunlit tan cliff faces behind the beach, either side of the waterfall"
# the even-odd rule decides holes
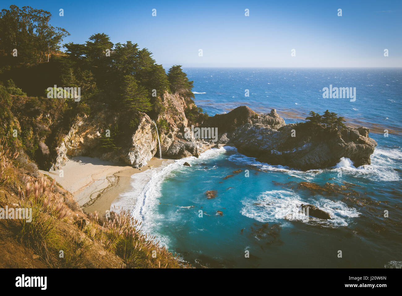
[[[162,155],[180,159],[188,156],[198,157],[201,153],[201,141],[185,138],[187,118],[185,109],[193,104],[179,95],[165,93],[161,98],[164,111],[158,115],[156,122],[165,122],[166,128],[159,130]],[[154,123],[145,113],[133,115],[137,121],[137,128],[120,143],[119,149],[101,149],[100,140],[105,135],[105,126],[117,124],[113,114],[93,112],[95,116],[77,118],[70,131],[53,152],[50,170],[59,170],[68,159],[76,156],[98,157],[113,162],[123,161],[135,168],[145,166],[158,152],[158,139]],[[38,153],[43,154],[43,149]]]

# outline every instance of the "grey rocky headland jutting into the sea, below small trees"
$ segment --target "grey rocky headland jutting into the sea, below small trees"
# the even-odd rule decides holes
[[[249,108],[239,108],[251,115]],[[226,120],[223,115],[228,115],[229,120],[230,113],[222,114],[222,120]],[[368,128],[346,127],[328,133],[323,127],[319,135],[313,135],[307,124],[285,125],[274,109],[268,115],[251,116],[242,122],[246,123],[226,132],[227,143],[258,161],[298,170],[332,167],[341,157],[351,159],[356,167],[370,164],[370,155],[377,146],[377,142],[368,137]]]

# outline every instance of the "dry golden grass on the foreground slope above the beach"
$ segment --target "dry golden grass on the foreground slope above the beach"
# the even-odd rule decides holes
[[[19,207],[32,209],[32,220],[8,219],[1,222],[8,223],[18,242],[33,249],[49,267],[86,267],[86,254],[94,241],[99,242],[107,252],[119,256],[128,268],[191,267],[160,246],[155,237],[143,234],[141,223],[124,211],[119,215],[112,212],[113,218],[107,219],[103,226],[99,225],[95,212],[88,219],[91,222],[82,219],[74,223],[76,234],[81,233],[84,237],[66,237],[60,231],[62,227],[58,226],[74,216],[68,200],[55,192],[55,180],[49,182],[45,177],[31,177],[16,168],[13,164],[16,157],[18,152],[10,153],[0,141],[0,188],[15,193]],[[64,251],[64,257],[59,257],[59,250]]]

